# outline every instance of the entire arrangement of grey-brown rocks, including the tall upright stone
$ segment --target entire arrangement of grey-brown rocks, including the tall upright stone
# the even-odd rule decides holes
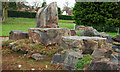
[[[80,31],[81,36],[77,36],[77,31]],[[9,39],[30,39],[46,47],[57,44],[62,53],[55,53],[51,64],[62,65],[68,70],[75,70],[76,62],[82,59],[84,54],[94,58],[87,70],[118,70],[120,68],[120,35],[112,38],[104,32],[99,33],[93,27],[85,26],[76,26],[75,29],[60,28],[56,2],[38,11],[36,28],[30,28],[28,32],[12,30]],[[10,45],[14,47],[14,42]],[[34,53],[32,58],[41,60],[46,56]]]

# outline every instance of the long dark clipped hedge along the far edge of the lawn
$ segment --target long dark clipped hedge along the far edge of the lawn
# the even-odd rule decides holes
[[[8,10],[8,17],[35,18],[36,17],[36,12]],[[63,19],[63,20],[73,20],[73,16],[58,15],[58,17],[59,17],[59,19]]]

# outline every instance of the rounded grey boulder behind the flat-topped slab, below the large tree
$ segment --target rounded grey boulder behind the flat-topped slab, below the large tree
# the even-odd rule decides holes
[[[99,36],[99,32],[96,29],[88,28],[84,31],[80,32],[80,35],[82,36]]]

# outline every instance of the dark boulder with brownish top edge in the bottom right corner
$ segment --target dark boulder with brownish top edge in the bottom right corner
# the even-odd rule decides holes
[[[90,70],[118,70],[116,64],[110,62],[110,59],[94,59],[91,61],[90,65],[87,67],[85,72],[91,72]]]

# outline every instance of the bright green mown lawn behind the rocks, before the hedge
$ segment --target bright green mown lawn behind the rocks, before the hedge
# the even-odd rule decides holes
[[[59,20],[58,25],[61,28],[74,29],[74,23],[66,23],[66,22],[73,22],[73,21],[74,20]],[[21,31],[27,32],[29,28],[35,28],[36,19],[35,18],[8,18],[8,21],[2,23],[2,26],[0,27],[2,27],[2,35],[0,36],[9,36],[9,32],[11,30],[21,30]],[[110,34],[112,37],[117,35],[117,33],[109,33],[109,32],[106,32],[106,33]]]

